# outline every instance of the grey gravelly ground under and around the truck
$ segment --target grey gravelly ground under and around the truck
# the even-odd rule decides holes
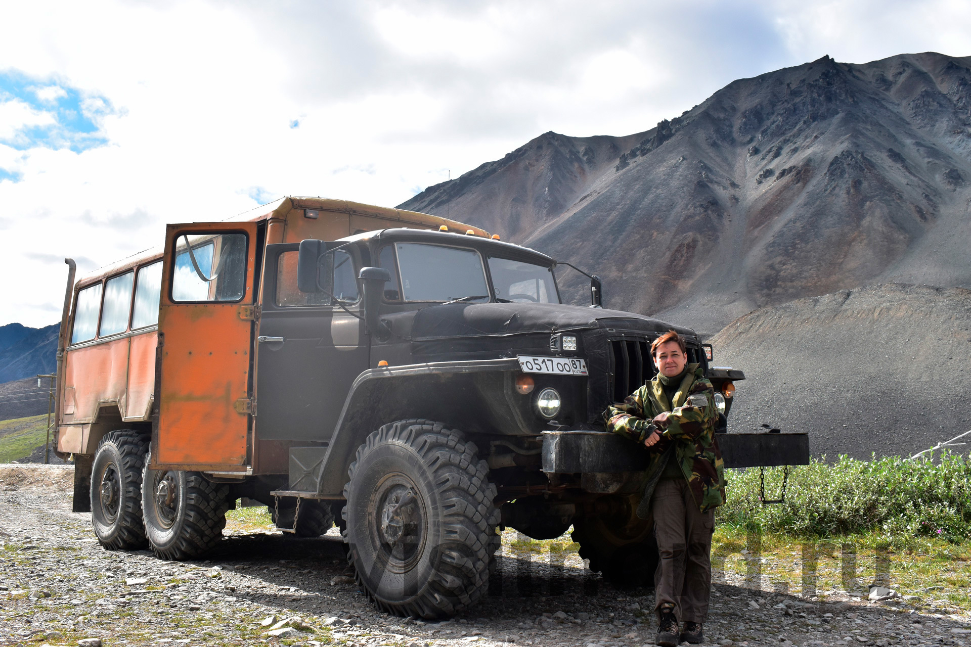
[[[424,622],[373,609],[335,530],[295,539],[231,514],[203,562],[105,551],[89,515],[70,511],[71,479],[70,468],[0,468],[0,645],[653,644],[650,591],[618,591],[573,554],[551,565],[538,542],[512,532],[489,596],[457,618]],[[971,645],[968,617],[899,598],[820,601],[743,574],[718,579],[706,645]]]

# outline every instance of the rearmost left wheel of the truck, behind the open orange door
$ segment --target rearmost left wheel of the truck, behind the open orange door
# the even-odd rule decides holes
[[[108,550],[144,548],[142,469],[149,438],[119,429],[98,443],[91,466],[91,525]]]

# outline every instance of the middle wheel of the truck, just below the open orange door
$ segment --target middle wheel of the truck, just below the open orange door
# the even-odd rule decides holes
[[[229,487],[197,471],[149,469],[149,464],[147,457],[142,501],[152,552],[163,560],[191,560],[216,546],[226,526]]]

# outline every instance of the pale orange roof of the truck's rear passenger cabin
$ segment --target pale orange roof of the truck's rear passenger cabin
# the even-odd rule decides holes
[[[331,200],[329,198],[310,198],[310,197],[299,197],[299,196],[286,196],[280,200],[276,200],[266,205],[260,205],[249,211],[244,211],[232,217],[221,220],[221,222],[258,222],[259,220],[265,220],[269,218],[274,213],[280,212],[280,215],[285,215],[291,209],[317,209],[321,211],[338,211],[342,213],[352,213],[355,215],[364,215],[378,218],[385,218],[390,221],[402,221],[402,222],[417,222],[419,224],[427,225],[429,227],[435,227],[439,225],[446,225],[449,229],[459,229],[459,230],[473,230],[477,236],[484,236],[488,238],[489,234],[484,229],[479,227],[474,227],[472,225],[467,225],[457,220],[452,220],[450,218],[443,218],[438,215],[432,215],[430,213],[421,213],[419,211],[408,211],[402,209],[392,209],[389,207],[378,207],[375,205],[364,205],[358,202],[351,202],[349,200]],[[210,222],[210,221],[206,221]],[[150,261],[154,258],[161,257],[162,253],[165,251],[163,244],[155,245],[144,249],[140,252],[132,254],[127,258],[122,258],[115,263],[110,263],[109,265],[102,266],[93,272],[89,272],[86,275],[78,279],[75,286],[81,286],[83,284],[89,284],[101,280],[105,276],[116,274],[121,270],[127,270],[128,268],[133,268],[137,265],[141,265],[146,261]]]

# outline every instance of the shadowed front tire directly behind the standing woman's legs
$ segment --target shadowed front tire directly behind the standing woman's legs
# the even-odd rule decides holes
[[[575,519],[570,536],[580,544],[580,557],[590,561],[590,570],[619,588],[654,586],[657,542],[653,519],[633,514]]]

